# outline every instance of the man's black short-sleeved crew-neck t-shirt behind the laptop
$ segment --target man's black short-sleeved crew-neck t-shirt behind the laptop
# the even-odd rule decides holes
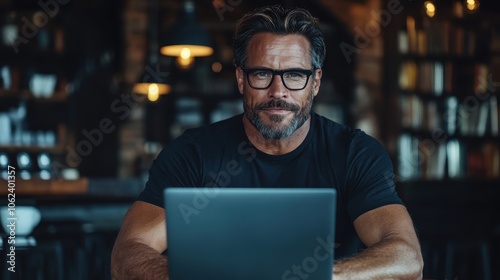
[[[252,146],[238,115],[186,130],[155,159],[138,200],[163,207],[171,187],[324,187],[337,190],[335,257],[362,248],[353,221],[396,194],[391,160],[371,136],[315,113],[300,146],[269,155]]]

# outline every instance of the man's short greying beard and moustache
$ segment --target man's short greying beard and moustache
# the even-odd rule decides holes
[[[273,99],[267,103],[260,103],[253,108],[250,107],[247,93],[243,92],[243,109],[245,117],[257,128],[260,134],[266,139],[285,139],[292,135],[299,127],[301,127],[309,118],[312,108],[314,94],[311,89],[309,98],[304,107],[296,104],[291,104],[282,99]],[[259,115],[260,110],[267,108],[284,108],[294,113],[293,119],[289,125],[281,124],[285,120],[285,116],[271,115],[269,119],[271,124],[266,124]]]

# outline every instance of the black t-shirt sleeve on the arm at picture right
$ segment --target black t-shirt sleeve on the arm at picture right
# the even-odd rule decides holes
[[[403,204],[396,193],[391,159],[376,139],[358,132],[347,160],[347,210],[352,221],[372,209]]]

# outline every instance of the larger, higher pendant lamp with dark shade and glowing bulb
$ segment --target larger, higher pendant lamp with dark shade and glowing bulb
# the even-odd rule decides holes
[[[166,34],[160,53],[184,59],[213,53],[208,32],[196,20],[193,1],[184,1],[183,13]]]

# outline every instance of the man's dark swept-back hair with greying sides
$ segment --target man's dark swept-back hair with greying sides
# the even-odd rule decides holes
[[[311,46],[312,66],[314,68],[323,66],[326,47],[318,19],[302,8],[284,9],[275,5],[258,8],[238,21],[233,38],[233,63],[236,67],[245,65],[248,42],[255,34],[261,32],[305,36]]]

